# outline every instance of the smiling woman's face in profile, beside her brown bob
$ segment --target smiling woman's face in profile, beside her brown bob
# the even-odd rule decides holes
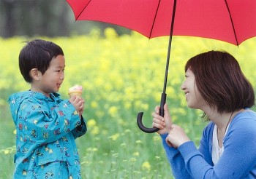
[[[195,74],[190,68],[187,69],[185,77],[185,81],[183,82],[183,84],[181,84],[181,90],[184,90],[187,100],[187,106],[189,108],[203,109],[203,107],[207,106],[207,103],[203,99],[200,92],[197,90],[197,85],[195,83]]]

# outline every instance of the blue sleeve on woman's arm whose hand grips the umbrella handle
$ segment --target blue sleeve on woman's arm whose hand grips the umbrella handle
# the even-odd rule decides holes
[[[192,178],[189,175],[189,172],[186,169],[186,165],[184,162],[183,156],[181,156],[181,153],[178,151],[178,149],[170,147],[167,145],[165,138],[167,137],[167,134],[160,135],[162,138],[162,145],[165,148],[165,153],[167,156],[167,159],[170,163],[170,167],[173,172],[173,176],[176,179],[189,179]]]

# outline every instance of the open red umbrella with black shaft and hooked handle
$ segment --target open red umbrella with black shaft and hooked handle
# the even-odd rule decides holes
[[[177,2],[176,2],[177,1]],[[170,36],[161,116],[165,104],[165,88],[173,35],[199,36],[239,45],[256,36],[255,0],[67,0],[75,20],[97,20],[138,31],[149,39]],[[175,22],[174,22],[175,21]],[[142,124],[140,130],[156,132]]]

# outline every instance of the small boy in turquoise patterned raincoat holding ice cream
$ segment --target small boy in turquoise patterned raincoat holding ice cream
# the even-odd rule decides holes
[[[31,89],[10,95],[15,123],[13,178],[81,178],[75,138],[86,133],[84,100],[61,100],[65,58],[57,44],[36,39],[19,55],[20,73]]]

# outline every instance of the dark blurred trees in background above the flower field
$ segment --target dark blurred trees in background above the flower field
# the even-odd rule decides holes
[[[65,0],[0,0],[0,36],[70,36],[88,34],[92,28],[115,28],[119,35],[127,28],[108,23],[77,21]]]

